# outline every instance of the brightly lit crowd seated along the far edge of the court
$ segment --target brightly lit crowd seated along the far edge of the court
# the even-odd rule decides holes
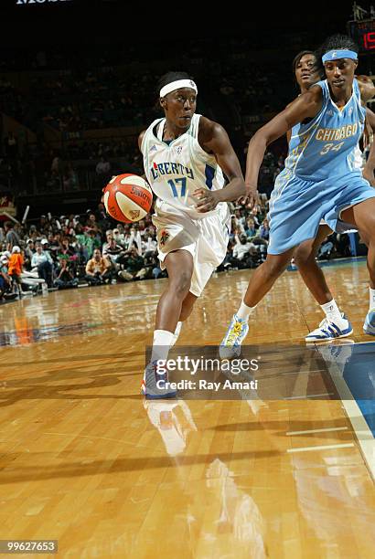
[[[230,204],[227,255],[217,271],[250,269],[267,255],[267,195],[252,210]],[[349,256],[348,236],[332,235],[320,258]],[[77,216],[41,216],[37,223],[0,227],[0,301],[47,290],[166,277],[157,258],[151,213],[115,224],[104,206]]]

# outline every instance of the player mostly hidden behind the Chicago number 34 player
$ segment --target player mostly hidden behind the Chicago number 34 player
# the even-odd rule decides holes
[[[316,54],[311,50],[303,50],[295,56],[293,61],[293,71],[295,80],[299,86],[300,92],[305,93],[312,85],[319,81],[323,74],[324,69],[320,68],[317,62]],[[363,102],[366,102],[375,95],[375,87],[372,80],[368,76],[358,76],[360,97]],[[372,113],[371,113],[372,114]],[[373,118],[373,117],[372,117]],[[288,142],[290,141],[291,132],[287,133]],[[362,168],[362,153],[357,147],[356,164],[359,169]],[[327,320],[340,321],[342,313],[338,309],[338,304],[334,300],[331,291],[327,286],[327,281],[324,276],[323,270],[319,268],[316,263],[317,251],[323,240],[332,233],[327,224],[322,223],[319,225],[316,237],[306,240],[299,247],[295,249],[294,258],[295,264],[301,274],[305,285],[310,290],[316,301],[321,306],[326,314]],[[338,332],[326,331],[327,335],[323,336],[324,340],[333,339],[338,336]],[[310,332],[306,336],[307,342],[318,342],[322,340],[321,327],[315,332]]]

